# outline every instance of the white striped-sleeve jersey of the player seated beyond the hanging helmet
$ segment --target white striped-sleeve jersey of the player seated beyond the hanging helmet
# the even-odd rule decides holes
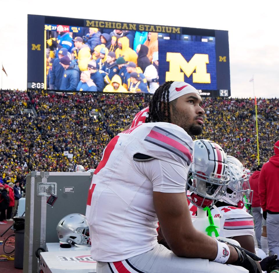
[[[218,211],[219,210],[219,211]],[[219,207],[218,210],[212,209],[212,217],[220,217],[220,236],[230,238],[233,236],[254,234],[254,218],[244,208],[234,206]]]

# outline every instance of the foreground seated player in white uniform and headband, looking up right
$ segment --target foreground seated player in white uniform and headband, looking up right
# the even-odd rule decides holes
[[[243,250],[192,225],[185,195],[193,153],[188,133],[201,133],[201,103],[191,85],[167,82],[153,95],[148,123],[118,134],[105,148],[86,210],[97,272],[237,272],[221,263],[257,272]],[[157,242],[158,219],[172,251]]]

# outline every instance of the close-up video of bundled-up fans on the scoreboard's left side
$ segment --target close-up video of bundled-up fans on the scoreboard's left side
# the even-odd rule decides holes
[[[158,33],[80,28],[47,32],[47,88],[154,93],[158,88]]]

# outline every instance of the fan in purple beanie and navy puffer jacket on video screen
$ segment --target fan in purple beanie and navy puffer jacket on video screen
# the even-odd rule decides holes
[[[60,64],[64,67],[64,75],[59,90],[74,91],[79,82],[79,69],[74,60],[70,60],[68,56],[60,59]]]

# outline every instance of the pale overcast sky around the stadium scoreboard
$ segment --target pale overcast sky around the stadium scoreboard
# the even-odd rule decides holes
[[[27,85],[27,14],[229,31],[232,97],[279,97],[275,1],[5,1],[1,3],[3,89]],[[5,12],[6,11],[6,12]],[[0,65],[1,65],[0,63]]]

